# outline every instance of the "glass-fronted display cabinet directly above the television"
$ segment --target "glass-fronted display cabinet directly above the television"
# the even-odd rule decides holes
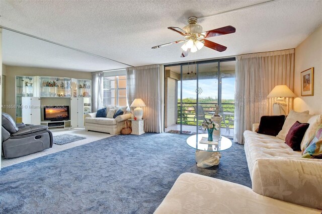
[[[41,76],[39,84],[41,97],[70,97],[70,78]]]

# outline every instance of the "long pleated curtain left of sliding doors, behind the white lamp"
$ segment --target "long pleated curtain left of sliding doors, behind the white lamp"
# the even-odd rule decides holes
[[[160,133],[162,129],[162,96],[160,87],[160,66],[146,65],[127,68],[127,100],[129,105],[135,98],[141,98],[144,131]]]

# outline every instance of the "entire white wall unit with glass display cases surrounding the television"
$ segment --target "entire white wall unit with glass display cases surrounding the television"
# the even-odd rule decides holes
[[[91,113],[91,92],[92,81],[88,79],[17,76],[16,105],[23,108],[17,108],[16,122],[40,125],[43,105],[70,105],[71,128],[83,128],[85,114]],[[44,97],[42,101],[40,97]]]

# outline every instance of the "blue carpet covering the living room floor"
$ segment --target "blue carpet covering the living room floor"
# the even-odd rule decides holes
[[[0,213],[152,213],[178,176],[251,186],[244,146],[198,168],[187,135],[118,135],[0,171]]]

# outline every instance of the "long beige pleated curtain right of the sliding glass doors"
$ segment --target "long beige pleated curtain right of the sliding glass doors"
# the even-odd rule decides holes
[[[285,84],[293,90],[294,49],[239,55],[236,57],[234,142],[244,143],[243,133],[272,114],[273,98],[268,93]],[[291,109],[293,102],[288,101]]]

